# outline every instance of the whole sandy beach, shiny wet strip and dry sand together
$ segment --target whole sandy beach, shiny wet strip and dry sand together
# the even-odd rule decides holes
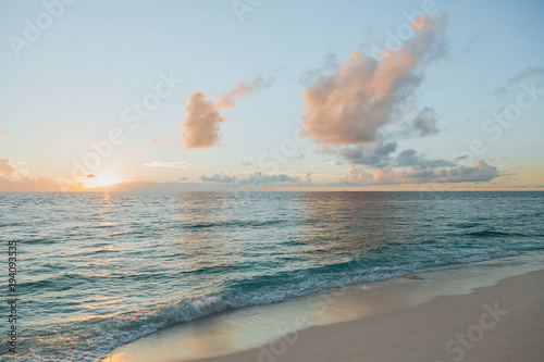
[[[104,361],[544,361],[544,271],[507,277],[522,273],[458,267],[219,313]]]

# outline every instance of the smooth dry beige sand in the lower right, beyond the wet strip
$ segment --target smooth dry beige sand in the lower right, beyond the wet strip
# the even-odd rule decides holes
[[[544,361],[544,270],[199,362]],[[197,360],[195,360],[197,361]]]

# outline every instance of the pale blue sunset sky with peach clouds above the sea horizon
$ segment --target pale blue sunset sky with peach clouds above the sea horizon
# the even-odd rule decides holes
[[[542,190],[543,15],[0,0],[0,191]]]

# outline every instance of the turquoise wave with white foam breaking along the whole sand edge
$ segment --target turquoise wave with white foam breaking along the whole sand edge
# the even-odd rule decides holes
[[[259,275],[245,280],[232,282],[223,291],[217,295],[194,297],[178,301],[175,304],[162,304],[132,312],[123,312],[110,316],[99,316],[90,320],[73,322],[60,327],[66,334],[73,335],[75,329],[92,330],[86,336],[89,342],[79,344],[75,349],[48,351],[47,345],[32,354],[20,358],[20,362],[51,361],[59,357],[50,353],[63,353],[62,360],[99,361],[114,348],[152,334],[175,323],[189,322],[210,314],[250,305],[264,305],[284,300],[305,297],[320,291],[346,287],[348,285],[368,284],[401,277],[410,273],[424,273],[454,264],[478,263],[492,259],[519,255],[518,251],[477,254],[466,258],[441,261],[413,262],[394,266],[370,266],[366,259],[353,259],[346,262],[313,269],[300,269],[281,272],[274,275]],[[85,283],[95,276],[71,274],[72,282]],[[50,280],[39,280],[39,284]],[[41,285],[41,287],[47,287]],[[77,325],[81,323],[81,325]],[[106,332],[106,333],[104,333]],[[38,330],[39,333],[39,330]],[[53,337],[51,337],[53,338]],[[39,358],[38,358],[39,355]]]

